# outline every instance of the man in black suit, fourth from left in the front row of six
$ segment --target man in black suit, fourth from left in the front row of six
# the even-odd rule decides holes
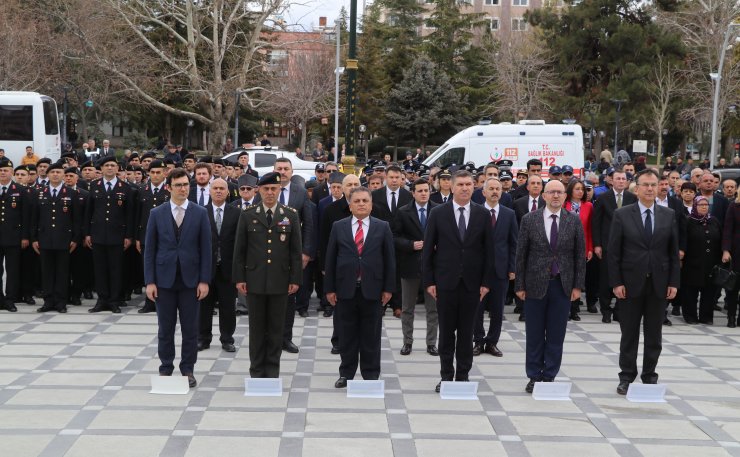
[[[475,312],[491,289],[491,217],[471,203],[473,182],[470,172],[455,172],[452,201],[434,208],[424,236],[423,286],[437,300],[442,381],[468,381]],[[435,390],[440,387],[441,381]]]

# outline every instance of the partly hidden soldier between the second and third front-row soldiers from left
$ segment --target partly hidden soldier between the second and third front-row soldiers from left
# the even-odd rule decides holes
[[[75,199],[80,209],[80,229],[85,227],[85,215],[87,214],[88,198],[90,193],[79,187],[80,175],[76,167],[68,167],[64,170],[64,185],[77,191]],[[83,246],[82,240],[77,248],[69,256],[69,303],[75,306],[82,305],[80,300],[85,291],[92,290],[93,281],[90,275],[92,265],[92,251]]]

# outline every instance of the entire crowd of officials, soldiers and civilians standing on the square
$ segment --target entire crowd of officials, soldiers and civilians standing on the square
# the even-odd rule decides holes
[[[145,288],[138,312],[158,314],[160,374],[174,370],[179,314],[180,371],[192,386],[214,314],[228,352],[237,316],[248,315],[250,374],[277,377],[281,352],[300,350],[294,320],[312,312],[315,292],[317,311],[334,322],[337,388],[358,368],[364,379],[380,375],[387,309],[401,319],[400,354],[412,352],[418,303],[425,350],[440,359],[436,390],[466,381],[474,357],[504,355],[513,303],[531,392],[555,379],[567,321],[581,319],[585,301],[605,324],[619,322],[624,394],[638,375],[640,323],[642,381],[657,382],[668,305],[688,324],[712,325],[723,310],[717,269],[740,272],[737,185],[701,167],[624,158],[614,167],[602,154],[607,167],[543,170],[532,159],[518,170],[506,160],[440,168],[410,153],[370,161],[359,176],[322,157],[306,181],[285,158],[259,176],[248,151],[232,163],[167,145],[119,161],[107,141],[85,146],[54,163],[32,148],[17,166],[0,157],[0,304],[15,312],[36,296],[38,312],[64,313],[94,298],[89,312],[120,313]],[[738,284],[724,293],[735,327]]]

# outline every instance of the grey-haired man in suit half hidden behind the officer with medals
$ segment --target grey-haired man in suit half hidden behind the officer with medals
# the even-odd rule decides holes
[[[316,206],[308,198],[308,192],[303,185],[293,182],[293,164],[290,159],[280,157],[275,161],[275,172],[280,174],[281,188],[278,193],[278,201],[281,205],[287,205],[295,210],[300,220],[301,243],[303,253],[301,255],[302,266],[305,269],[308,262],[316,257]],[[262,192],[260,192],[260,197]],[[258,200],[259,201],[259,200]],[[301,284],[302,281],[298,282]],[[283,331],[283,350],[296,353],[298,346],[293,343],[293,323],[295,322],[296,294],[288,297],[288,305],[285,310],[285,328]]]

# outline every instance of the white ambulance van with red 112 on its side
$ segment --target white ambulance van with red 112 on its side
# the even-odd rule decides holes
[[[576,124],[545,124],[519,121],[518,124],[481,124],[469,127],[445,142],[424,163],[443,168],[473,162],[476,166],[507,159],[512,172],[526,169],[527,161],[542,161],[542,176],[553,165],[570,165],[573,174],[583,174],[583,130]]]

